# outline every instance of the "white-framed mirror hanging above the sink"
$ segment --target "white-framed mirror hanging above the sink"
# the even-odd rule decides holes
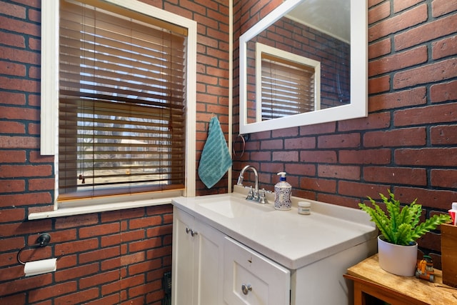
[[[367,15],[365,0],[286,0],[248,29],[240,134],[367,116]]]

